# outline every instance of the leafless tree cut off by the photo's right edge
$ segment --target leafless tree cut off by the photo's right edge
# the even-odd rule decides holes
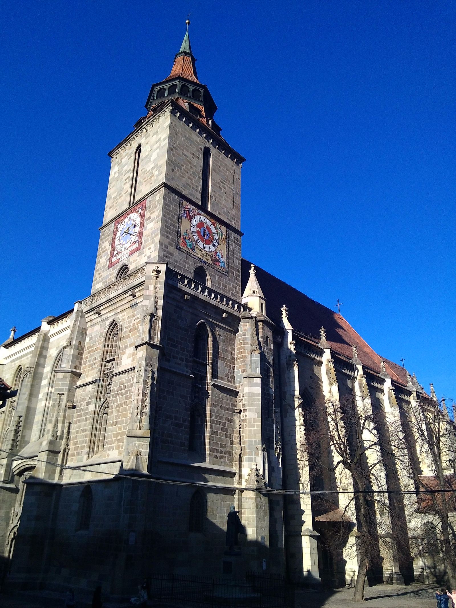
[[[412,399],[402,413],[402,427],[418,492],[418,514],[423,529],[436,522],[440,551],[448,584],[456,585],[456,426],[449,419],[444,400]],[[432,538],[428,539],[434,544]],[[425,539],[426,542],[426,539]],[[429,550],[430,549],[430,550]],[[428,548],[434,553],[434,547]]]

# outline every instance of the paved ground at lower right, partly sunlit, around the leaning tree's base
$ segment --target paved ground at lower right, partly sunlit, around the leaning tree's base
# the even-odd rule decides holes
[[[365,589],[365,608],[434,608],[435,587],[426,585],[376,585]],[[353,608],[353,589],[333,592],[297,591],[295,608]]]

